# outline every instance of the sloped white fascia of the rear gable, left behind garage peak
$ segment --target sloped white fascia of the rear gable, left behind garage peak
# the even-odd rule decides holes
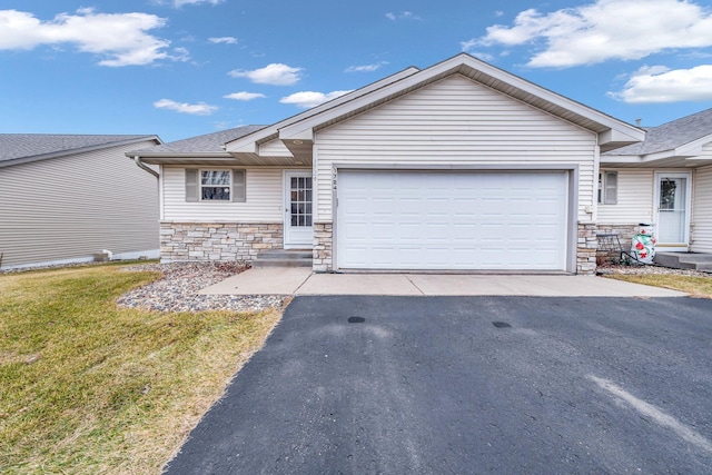
[[[312,109],[305,110],[301,113],[298,113],[296,116],[291,116],[285,120],[281,120],[277,123],[274,123],[269,127],[266,127],[261,130],[258,130],[256,132],[253,132],[248,136],[245,137],[240,137],[236,140],[229,141],[226,144],[226,150],[228,151],[241,151],[241,148],[244,148],[245,146],[249,145],[249,144],[259,144],[260,141],[269,138],[273,135],[277,135],[279,133],[279,130],[284,127],[287,127],[294,122],[298,122],[300,120],[305,120],[309,117],[316,116],[320,112],[324,112],[325,110],[328,110],[330,108],[334,107],[338,107],[345,102],[348,102],[350,100],[354,100],[355,98],[358,98],[360,96],[367,95],[368,92],[372,92],[374,90],[377,90],[379,88],[383,88],[387,85],[390,85],[393,82],[397,82],[399,80],[402,80],[403,78],[407,78],[408,76],[413,76],[416,72],[418,72],[419,69],[415,68],[415,67],[409,67],[404,69],[403,71],[396,72],[395,75],[390,75],[387,78],[380,79],[376,82],[373,82],[368,86],[364,86],[360,89],[356,89],[355,91],[352,91],[347,95],[337,97],[336,99],[333,99],[328,102],[324,102],[319,106],[313,107]]]

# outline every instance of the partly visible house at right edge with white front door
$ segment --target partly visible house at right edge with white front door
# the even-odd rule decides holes
[[[599,228],[625,245],[654,225],[659,251],[712,253],[712,109],[601,156]]]

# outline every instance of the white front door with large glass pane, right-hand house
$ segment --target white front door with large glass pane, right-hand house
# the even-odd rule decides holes
[[[655,174],[655,235],[662,250],[688,250],[691,179],[689,172]]]

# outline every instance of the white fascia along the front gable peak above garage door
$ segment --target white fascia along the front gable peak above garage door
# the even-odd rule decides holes
[[[284,140],[294,139],[297,136],[307,136],[309,133],[309,129],[313,130],[320,123],[337,119],[338,117],[342,117],[349,111],[360,108],[367,108],[369,103],[377,102],[384,98],[397,93],[398,91],[415,87],[418,83],[425,82],[428,79],[433,79],[439,75],[446,75],[448,71],[453,71],[453,73],[457,72],[457,70],[463,66],[466,68],[471,68],[474,71],[487,75],[498,81],[515,87],[523,92],[536,96],[540,99],[543,99],[552,105],[562,107],[589,120],[607,127],[609,129],[615,131],[616,137],[623,138],[623,141],[637,142],[642,141],[645,138],[645,130],[641,128],[637,128],[630,123],[625,123],[619,119],[615,119],[580,102],[565,98],[564,96],[561,96],[556,92],[550,91],[548,89],[542,88],[541,86],[536,86],[533,82],[487,65],[486,62],[483,62],[467,53],[457,55],[451,59],[424,69],[415,75],[411,75],[399,81],[393,82],[380,89],[374,90],[370,93],[355,98],[347,103],[332,107],[323,113],[313,115],[308,118],[304,118],[299,121],[294,121],[290,125],[286,125],[279,130],[279,138]]]

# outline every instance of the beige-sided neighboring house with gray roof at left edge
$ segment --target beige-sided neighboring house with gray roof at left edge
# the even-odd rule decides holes
[[[158,257],[158,180],[125,156],[158,144],[157,136],[0,133],[0,268],[90,261],[103,250]]]

